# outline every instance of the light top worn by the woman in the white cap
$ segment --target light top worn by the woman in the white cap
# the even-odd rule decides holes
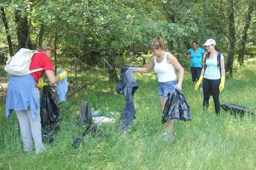
[[[210,79],[210,80],[218,80],[220,79],[220,67],[218,67],[218,61],[217,61],[217,55],[218,53],[215,54],[214,58],[212,59],[206,59],[206,69],[205,69],[205,79]],[[205,56],[204,56],[205,58]],[[223,55],[220,55],[220,60],[224,59]]]

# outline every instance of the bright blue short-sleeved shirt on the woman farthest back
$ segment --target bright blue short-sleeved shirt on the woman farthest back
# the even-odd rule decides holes
[[[194,53],[194,48],[190,48],[188,53],[190,53],[190,67],[202,68],[201,62],[205,50],[203,48],[197,48],[196,53]]]

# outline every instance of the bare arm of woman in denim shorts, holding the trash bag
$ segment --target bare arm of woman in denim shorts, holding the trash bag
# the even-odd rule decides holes
[[[179,63],[179,61],[176,59],[176,57],[170,53],[167,55],[167,61],[168,63],[171,63],[172,66],[175,66],[175,69],[179,71],[179,82],[176,85],[181,90],[182,87],[182,81],[183,81],[183,76],[184,76],[184,69]]]

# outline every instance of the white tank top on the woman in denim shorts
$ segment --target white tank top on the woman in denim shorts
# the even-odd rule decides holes
[[[167,54],[161,63],[157,62],[157,56],[154,59],[154,71],[157,73],[158,82],[176,81],[175,67],[171,63],[167,63]]]

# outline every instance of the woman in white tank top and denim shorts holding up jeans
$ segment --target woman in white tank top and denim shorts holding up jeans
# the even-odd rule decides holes
[[[150,48],[153,52],[153,57],[149,64],[144,68],[130,68],[133,72],[150,72],[154,70],[157,72],[158,87],[159,87],[159,102],[164,110],[164,104],[168,98],[168,93],[175,90],[175,87],[181,90],[184,69],[174,55],[164,51],[164,40],[157,37],[150,42]],[[175,68],[179,71],[179,81],[175,74]],[[174,120],[167,120],[167,130],[164,132],[164,140],[170,139],[175,141],[174,138]]]

